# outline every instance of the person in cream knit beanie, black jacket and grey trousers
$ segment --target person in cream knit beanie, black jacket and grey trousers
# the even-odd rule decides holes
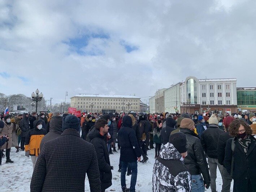
[[[216,192],[216,178],[217,178],[217,167],[220,170],[221,177],[223,178],[223,166],[220,165],[218,162],[218,154],[217,154],[217,147],[218,147],[218,138],[219,136],[224,133],[224,131],[220,130],[218,126],[218,119],[215,115],[211,115],[209,118],[209,128],[205,130],[201,134],[201,144],[203,146],[205,154],[208,156],[208,164],[210,169],[210,177],[211,177],[211,190],[212,192]],[[226,191],[226,183],[225,179],[222,179],[223,185],[222,190]]]

